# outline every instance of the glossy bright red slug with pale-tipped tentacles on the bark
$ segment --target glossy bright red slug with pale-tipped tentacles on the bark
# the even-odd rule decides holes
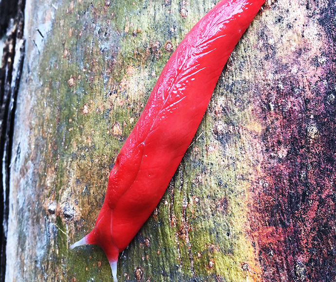
[[[119,252],[166,191],[230,53],[263,2],[220,1],[191,29],[164,67],[116,158],[93,230],[71,247],[102,247],[114,281]]]

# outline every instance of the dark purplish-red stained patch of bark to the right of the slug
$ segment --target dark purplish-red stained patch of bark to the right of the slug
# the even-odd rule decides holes
[[[336,4],[329,5],[317,17],[326,32],[336,16]],[[331,37],[325,46],[335,45]],[[301,50],[294,64],[307,56]],[[324,56],[323,65],[309,57],[315,71],[293,75],[290,63],[270,55],[275,81],[258,89],[254,103],[264,126],[263,162],[250,223],[264,282],[336,279],[336,54],[326,48]]]

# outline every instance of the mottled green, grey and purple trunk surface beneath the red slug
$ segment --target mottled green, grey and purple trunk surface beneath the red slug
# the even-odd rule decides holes
[[[31,0],[6,281],[111,281],[93,228],[115,156],[212,0]],[[336,3],[268,0],[118,281],[336,280]]]

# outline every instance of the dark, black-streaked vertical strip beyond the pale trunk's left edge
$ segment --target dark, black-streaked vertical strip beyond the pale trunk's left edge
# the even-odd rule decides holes
[[[6,7],[6,5],[11,7]],[[14,5],[16,5],[16,7],[13,7]],[[9,170],[14,134],[16,98],[24,57],[24,5],[25,0],[2,0],[0,2],[1,19],[3,11],[7,11],[8,9],[16,10],[15,18],[8,19],[8,28],[0,66],[0,282],[4,282],[6,271],[6,244],[9,214]],[[0,28],[3,28],[2,20]]]

